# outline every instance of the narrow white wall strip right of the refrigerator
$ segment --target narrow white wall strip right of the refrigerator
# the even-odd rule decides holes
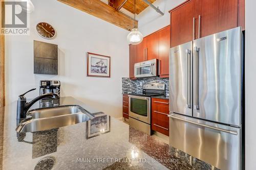
[[[256,1],[245,1],[245,169],[256,169]]]

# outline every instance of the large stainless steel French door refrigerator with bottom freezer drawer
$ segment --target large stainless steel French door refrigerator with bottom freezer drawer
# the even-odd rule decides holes
[[[220,169],[241,169],[241,28],[173,48],[169,57],[169,142]]]

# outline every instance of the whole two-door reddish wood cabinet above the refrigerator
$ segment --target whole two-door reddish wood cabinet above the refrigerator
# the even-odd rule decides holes
[[[241,26],[245,0],[188,0],[170,10],[171,47]]]

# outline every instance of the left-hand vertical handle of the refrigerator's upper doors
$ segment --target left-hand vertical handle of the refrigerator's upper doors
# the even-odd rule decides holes
[[[191,50],[187,53],[187,72],[186,72],[186,108],[191,108]]]

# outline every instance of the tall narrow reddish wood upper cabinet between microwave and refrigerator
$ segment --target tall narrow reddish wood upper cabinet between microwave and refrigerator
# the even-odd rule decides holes
[[[159,31],[159,76],[169,77],[170,26]]]

